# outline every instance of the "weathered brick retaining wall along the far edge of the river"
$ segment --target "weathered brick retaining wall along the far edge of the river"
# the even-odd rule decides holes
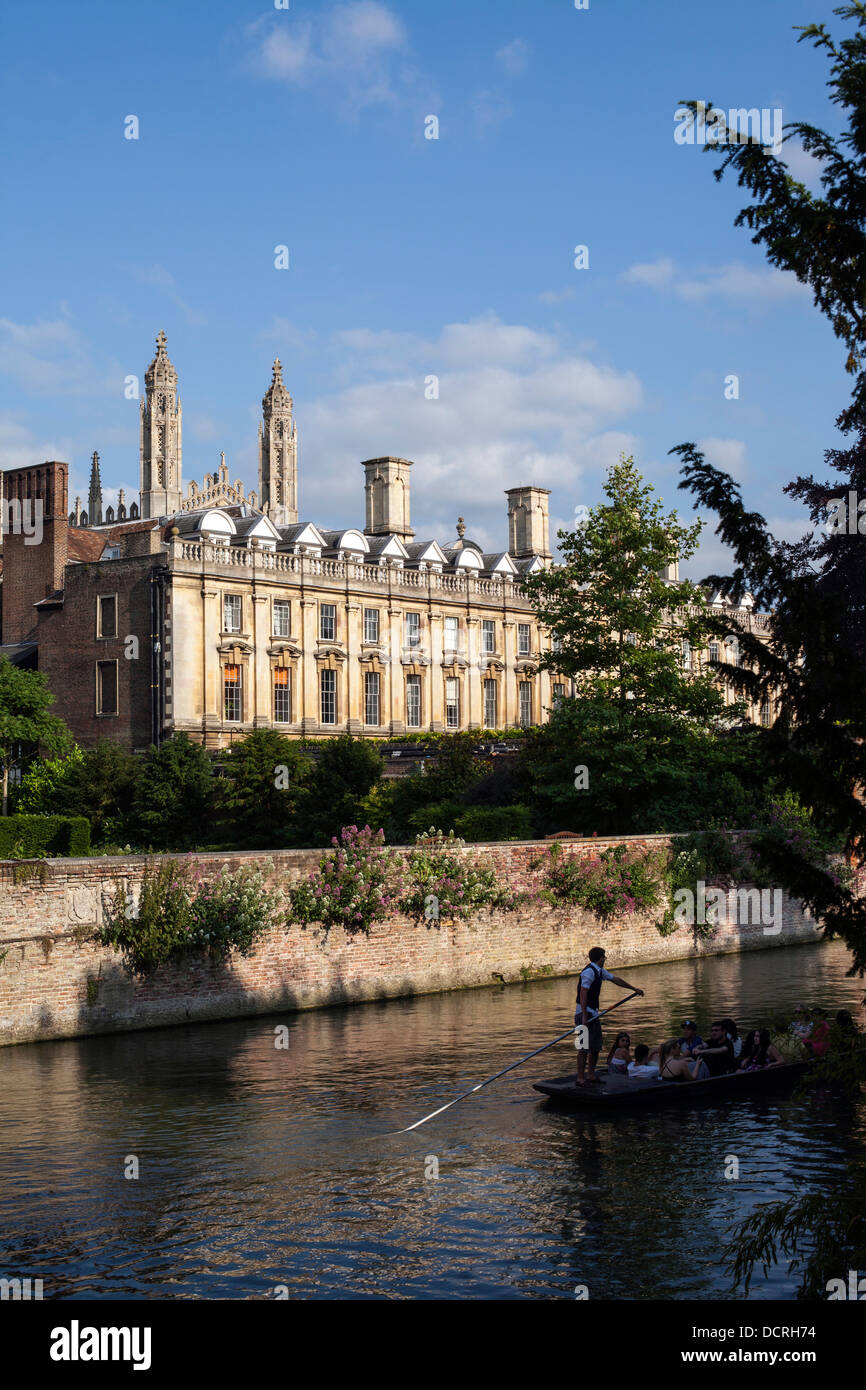
[[[663,845],[664,835],[566,841],[563,853],[598,853],[616,844]],[[468,845],[461,852],[492,863],[512,888],[528,888],[539,844]],[[260,866],[275,887],[306,877],[320,851],[188,855],[211,878],[224,866]],[[802,905],[783,898],[781,922],[723,922],[696,938],[689,927],[662,937],[656,913],[603,927],[580,909],[524,906],[478,912],[467,920],[417,924],[395,916],[370,937],[332,930],[275,927],[249,958],[228,963],[192,960],[132,979],[113,951],[93,942],[103,901],[122,880],[135,899],[143,856],[51,859],[0,865],[0,1044],[122,1033],[231,1019],[246,1015],[327,1008],[467,990],[496,981],[569,976],[589,947],[603,942],[614,970],[634,965],[771,949],[820,938]]]

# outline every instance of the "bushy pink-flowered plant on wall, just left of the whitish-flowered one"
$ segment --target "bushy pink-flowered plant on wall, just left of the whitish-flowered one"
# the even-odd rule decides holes
[[[342,927],[349,935],[370,935],[373,924],[393,910],[403,892],[403,866],[385,849],[385,833],[370,826],[345,826],[331,841],[309,878],[289,890],[293,922],[317,923],[325,934]]]

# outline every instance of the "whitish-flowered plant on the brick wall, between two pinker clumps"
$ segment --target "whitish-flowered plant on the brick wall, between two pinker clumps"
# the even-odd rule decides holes
[[[463,840],[453,830],[443,835],[434,826],[416,837],[406,865],[407,887],[400,912],[418,922],[466,917],[480,908],[513,910],[520,894],[503,888],[492,866],[463,853]]]

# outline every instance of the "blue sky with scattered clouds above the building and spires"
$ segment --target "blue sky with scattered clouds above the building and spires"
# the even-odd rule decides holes
[[[11,0],[0,466],[67,459],[86,498],[99,449],[107,499],[136,493],[124,379],[164,328],[185,486],[220,450],[257,485],[278,354],[304,520],[363,523],[360,461],[392,453],[416,461],[418,538],[460,514],[502,549],[505,488],[549,486],[571,524],[621,450],[691,517],[667,450],[698,439],[799,534],[781,488],[823,475],[844,352],[734,228],[741,190],[674,142],[674,111],[835,129],[826,61],[792,29],[838,33],[833,3]],[[691,573],[723,563],[710,530]]]

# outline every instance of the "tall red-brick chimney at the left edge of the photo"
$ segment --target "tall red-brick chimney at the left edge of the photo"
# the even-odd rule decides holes
[[[63,588],[67,563],[68,463],[3,474],[3,641],[36,632],[33,603]]]

